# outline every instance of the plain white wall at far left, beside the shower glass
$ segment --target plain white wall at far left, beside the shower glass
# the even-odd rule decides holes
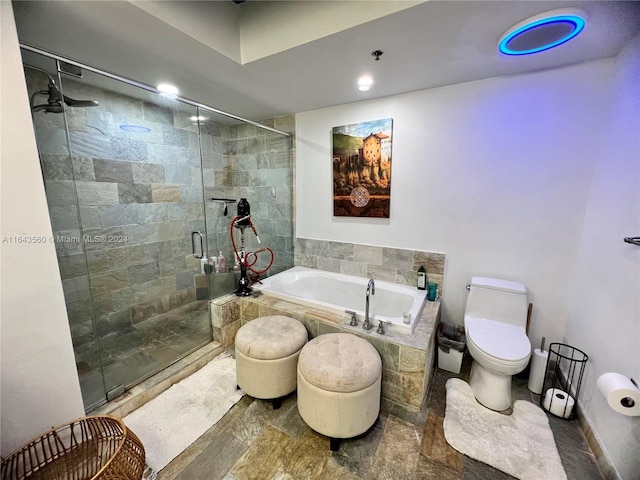
[[[0,423],[2,456],[84,415],[11,2],[2,22]],[[14,243],[44,238],[44,243]]]

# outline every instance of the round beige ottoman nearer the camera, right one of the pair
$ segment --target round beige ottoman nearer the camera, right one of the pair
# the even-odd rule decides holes
[[[330,439],[366,432],[380,413],[382,361],[366,340],[350,333],[320,335],[298,359],[298,410],[309,427]]]

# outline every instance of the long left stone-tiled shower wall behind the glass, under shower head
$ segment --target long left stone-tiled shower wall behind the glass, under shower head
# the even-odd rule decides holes
[[[30,91],[46,86],[30,73]],[[95,348],[95,333],[106,337],[195,300],[199,262],[190,233],[204,225],[202,177],[198,131],[189,120],[195,109],[178,112],[71,80],[63,87],[100,104],[67,108],[73,157],[64,116],[34,115],[69,322],[82,356],[83,348]],[[121,124],[151,131],[131,133]]]

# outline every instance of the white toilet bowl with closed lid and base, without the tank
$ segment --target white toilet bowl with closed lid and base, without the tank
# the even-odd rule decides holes
[[[525,369],[531,343],[524,327],[465,315],[467,347],[474,362],[469,385],[478,402],[492,410],[511,406],[511,376]]]

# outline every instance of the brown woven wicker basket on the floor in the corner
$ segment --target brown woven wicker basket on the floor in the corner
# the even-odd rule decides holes
[[[119,418],[97,415],[54,427],[2,461],[2,480],[140,480],[142,442]]]

